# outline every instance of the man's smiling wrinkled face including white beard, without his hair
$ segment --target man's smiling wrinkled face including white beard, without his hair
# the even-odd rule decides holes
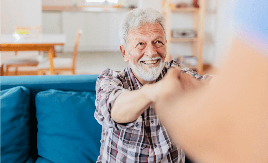
[[[126,62],[140,80],[154,81],[160,75],[166,58],[165,33],[159,23],[146,24],[129,31]],[[142,82],[143,83],[143,82]]]

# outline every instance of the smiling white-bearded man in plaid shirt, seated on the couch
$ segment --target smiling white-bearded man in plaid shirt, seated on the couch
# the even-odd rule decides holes
[[[184,162],[184,152],[172,142],[154,111],[156,95],[162,90],[153,83],[170,67],[180,67],[198,79],[205,76],[176,61],[165,62],[165,19],[156,10],[129,11],[119,35],[120,51],[129,65],[98,76],[94,116],[102,125],[102,145],[97,162]]]

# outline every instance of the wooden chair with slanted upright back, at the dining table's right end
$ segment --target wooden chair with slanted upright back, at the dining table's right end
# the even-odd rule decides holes
[[[75,48],[73,51],[73,58],[53,58],[53,66],[55,74],[59,74],[62,71],[71,71],[72,74],[75,74],[75,64],[76,64],[76,55],[79,44],[79,39],[82,34],[82,30],[78,29],[75,40]],[[47,60],[46,62],[42,62],[38,64],[38,75],[45,75],[50,68],[50,62]]]

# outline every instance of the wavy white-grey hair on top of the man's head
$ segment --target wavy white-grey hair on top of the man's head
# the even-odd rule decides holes
[[[124,19],[122,20],[119,26],[119,39],[121,41],[121,45],[124,45],[126,50],[128,51],[127,45],[127,33],[130,30],[138,29],[139,27],[145,24],[154,24],[159,23],[165,32],[165,40],[166,40],[166,29],[165,23],[166,20],[164,16],[157,10],[152,8],[136,8],[134,10],[129,11]]]

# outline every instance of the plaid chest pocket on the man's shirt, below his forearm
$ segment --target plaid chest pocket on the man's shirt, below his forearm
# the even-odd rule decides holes
[[[129,127],[122,131],[122,144],[127,148],[143,149],[148,146],[148,138],[144,131],[144,124],[141,116],[134,123],[133,127]]]

